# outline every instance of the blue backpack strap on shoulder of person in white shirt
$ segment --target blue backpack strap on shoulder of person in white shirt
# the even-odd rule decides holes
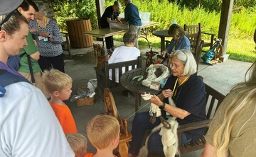
[[[4,88],[5,86],[16,82],[31,83],[26,78],[11,74],[9,71],[6,71],[4,69],[0,69],[0,80],[0,98],[4,97],[4,94],[6,93],[6,89]]]

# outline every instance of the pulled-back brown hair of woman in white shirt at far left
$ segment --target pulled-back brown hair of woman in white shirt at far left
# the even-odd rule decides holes
[[[0,16],[0,23],[4,21],[4,18],[6,18],[6,16],[7,14]],[[21,28],[21,23],[28,24],[28,20],[24,18],[24,16],[21,16],[20,13],[15,11],[8,21],[0,25],[0,30],[4,30],[6,31],[6,33],[12,35]]]

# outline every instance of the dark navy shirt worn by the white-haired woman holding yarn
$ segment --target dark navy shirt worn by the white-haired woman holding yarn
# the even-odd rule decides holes
[[[167,80],[164,89],[174,90],[174,85],[177,77],[171,75]],[[206,87],[203,81],[198,78],[197,74],[190,76],[188,81],[183,83],[183,85],[176,85],[176,95],[173,95],[174,103],[176,107],[190,112],[183,120],[177,117],[178,124],[188,124],[191,122],[198,122],[201,120],[206,120]],[[164,102],[169,104],[168,98],[164,99]],[[166,112],[163,112],[165,115]],[[203,134],[205,134],[206,129],[195,129],[192,131],[184,132],[188,138],[193,141],[197,141]]]

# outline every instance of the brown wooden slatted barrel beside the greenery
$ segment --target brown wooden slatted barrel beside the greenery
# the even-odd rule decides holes
[[[71,47],[83,48],[93,45],[92,35],[84,34],[84,32],[92,30],[89,18],[70,19],[66,23]]]

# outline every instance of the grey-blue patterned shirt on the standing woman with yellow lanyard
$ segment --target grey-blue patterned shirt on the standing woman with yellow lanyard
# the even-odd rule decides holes
[[[55,57],[59,56],[63,53],[63,49],[61,47],[61,42],[63,42],[63,37],[60,34],[60,30],[58,28],[58,24],[55,20],[50,18],[49,23],[46,25],[46,28],[42,28],[38,25],[36,19],[33,21],[29,21],[29,28],[36,28],[38,33],[34,34],[36,37],[36,41],[38,42],[38,51],[40,55],[43,57]],[[43,40],[39,40],[40,36],[39,32],[46,32],[53,36],[53,40],[48,40],[48,42],[43,42]]]

